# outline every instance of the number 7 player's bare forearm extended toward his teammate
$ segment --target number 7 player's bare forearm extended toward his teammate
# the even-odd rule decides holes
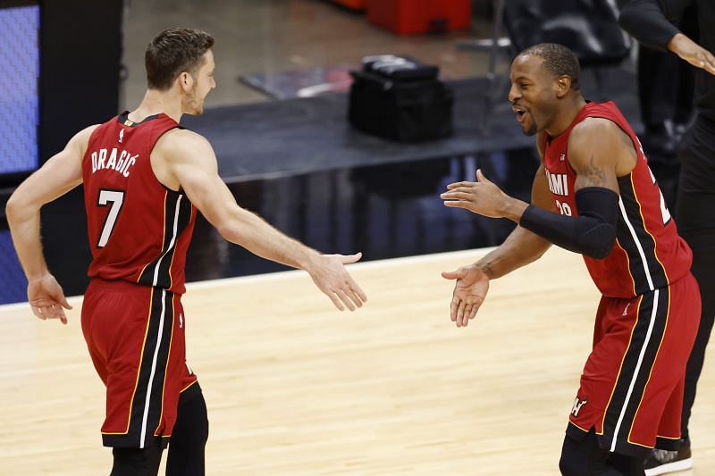
[[[243,246],[254,255],[293,268],[309,271],[319,255],[248,210],[239,208],[232,220],[216,228],[223,238]]]

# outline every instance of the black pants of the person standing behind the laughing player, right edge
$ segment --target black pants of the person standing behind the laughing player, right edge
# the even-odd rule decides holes
[[[705,347],[715,319],[715,121],[698,116],[686,133],[682,149],[677,230],[693,249],[692,271],[702,297],[700,328],[686,369],[682,417],[683,438],[686,438]]]

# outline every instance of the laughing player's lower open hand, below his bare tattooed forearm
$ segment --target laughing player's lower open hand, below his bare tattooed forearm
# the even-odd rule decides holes
[[[484,303],[489,290],[489,277],[472,264],[462,266],[457,271],[443,271],[442,278],[457,280],[450,303],[450,318],[457,323],[457,327],[465,327]]]

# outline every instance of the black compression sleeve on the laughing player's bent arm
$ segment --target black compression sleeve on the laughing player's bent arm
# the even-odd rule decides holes
[[[529,205],[519,225],[574,253],[601,260],[616,242],[618,194],[602,187],[576,191],[578,216],[559,215]]]

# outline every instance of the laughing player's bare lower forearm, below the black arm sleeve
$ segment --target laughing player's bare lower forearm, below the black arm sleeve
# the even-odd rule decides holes
[[[485,255],[475,265],[484,271],[490,280],[495,280],[528,263],[533,263],[549,249],[549,246],[551,246],[549,241],[517,226],[501,246]]]

